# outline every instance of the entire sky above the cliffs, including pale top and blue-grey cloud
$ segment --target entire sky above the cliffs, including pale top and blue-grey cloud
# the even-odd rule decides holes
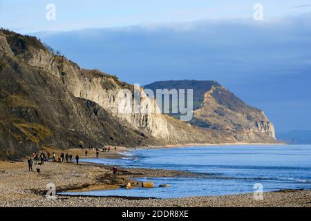
[[[0,27],[36,35],[83,68],[142,86],[216,80],[263,109],[276,132],[311,130],[310,21],[311,0],[0,0]]]

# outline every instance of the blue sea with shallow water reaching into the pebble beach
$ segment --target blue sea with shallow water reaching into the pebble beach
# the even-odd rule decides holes
[[[122,159],[82,159],[83,162],[147,169],[205,173],[203,177],[144,177],[154,189],[115,189],[68,195],[183,198],[189,196],[311,189],[311,145],[232,145],[133,149]],[[169,184],[168,188],[158,187]]]

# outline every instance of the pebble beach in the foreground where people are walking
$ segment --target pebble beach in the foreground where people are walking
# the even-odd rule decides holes
[[[81,157],[84,151],[66,150]],[[118,147],[117,151],[101,153],[100,156],[120,157],[120,151],[126,151],[126,148]],[[88,156],[94,157],[95,151],[89,151]],[[40,168],[41,174],[35,172],[37,167]],[[42,166],[34,165],[33,169],[34,172],[28,171],[26,160],[0,162],[0,206],[311,206],[310,190],[264,193],[263,200],[254,200],[253,193],[176,199],[57,195],[54,200],[46,198],[47,184],[55,184],[57,193],[96,191],[122,188],[129,182],[135,188],[139,184],[131,180],[131,177],[193,177],[200,174],[161,169],[121,168],[117,178],[113,178],[111,166],[84,162],[79,165],[45,162]]]

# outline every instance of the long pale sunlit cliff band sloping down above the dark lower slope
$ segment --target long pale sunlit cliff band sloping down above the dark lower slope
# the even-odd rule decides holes
[[[135,129],[142,129],[161,139],[169,138],[167,121],[159,113],[153,99],[149,99],[142,88],[138,110],[131,99],[131,106],[126,105],[126,95],[133,95],[134,86],[119,81],[116,77],[101,73],[99,70],[84,70],[65,57],[55,56],[47,50],[31,48],[23,55],[26,62],[37,68],[44,68],[51,75],[59,78],[68,90],[79,98],[91,100],[109,111]],[[129,94],[122,90],[128,90]]]

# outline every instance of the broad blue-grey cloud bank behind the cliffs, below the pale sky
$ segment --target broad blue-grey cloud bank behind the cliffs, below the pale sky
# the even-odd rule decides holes
[[[205,20],[37,36],[82,67],[100,68],[130,83],[217,80],[267,110],[286,131],[298,128],[286,120],[291,117],[301,128],[311,128],[311,119],[291,105],[301,100],[311,104],[310,19],[305,14],[265,21]],[[311,113],[310,105],[306,108]]]

